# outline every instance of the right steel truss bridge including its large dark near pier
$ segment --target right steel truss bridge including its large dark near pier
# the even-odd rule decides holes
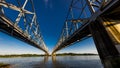
[[[105,68],[120,67],[119,0],[72,0],[52,55],[89,37]]]

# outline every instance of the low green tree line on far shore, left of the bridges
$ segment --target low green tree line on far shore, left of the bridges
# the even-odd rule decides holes
[[[38,54],[20,54],[20,55],[0,55],[1,58],[9,58],[9,57],[39,57],[39,56],[45,56],[43,54],[38,55]]]

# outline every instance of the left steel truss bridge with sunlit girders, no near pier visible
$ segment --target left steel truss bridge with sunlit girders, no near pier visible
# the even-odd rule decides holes
[[[49,54],[32,0],[0,0],[0,31]]]

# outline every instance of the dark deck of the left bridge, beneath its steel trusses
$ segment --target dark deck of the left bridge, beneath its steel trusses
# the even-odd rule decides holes
[[[44,50],[42,47],[40,47],[38,44],[36,44],[36,42],[31,41],[31,39],[28,38],[28,36],[25,35],[24,33],[21,33],[19,31],[19,29],[16,29],[15,27],[13,27],[13,25],[8,24],[7,19],[6,20],[4,20],[4,19],[2,19],[2,17],[0,17],[0,31],[1,32],[8,34],[10,36],[13,36],[16,39],[19,39],[25,43],[28,43],[28,44],[44,51],[48,55],[48,52],[46,50]]]

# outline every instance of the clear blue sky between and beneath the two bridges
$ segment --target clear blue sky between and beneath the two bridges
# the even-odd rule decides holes
[[[59,39],[70,2],[70,0],[34,0],[40,31],[50,53]],[[59,51],[63,52],[97,53],[92,38]],[[44,52],[0,32],[0,54],[24,53]]]

